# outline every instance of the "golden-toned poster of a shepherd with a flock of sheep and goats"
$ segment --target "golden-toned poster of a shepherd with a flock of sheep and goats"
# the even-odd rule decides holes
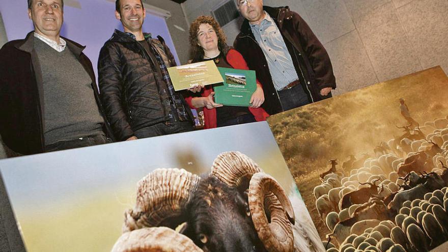
[[[327,251],[447,251],[446,97],[434,67],[268,118]]]

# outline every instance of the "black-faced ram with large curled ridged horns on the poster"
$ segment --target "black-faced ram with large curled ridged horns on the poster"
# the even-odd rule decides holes
[[[226,152],[209,174],[157,169],[139,181],[113,251],[295,251],[294,223],[278,182],[244,154]],[[182,249],[173,249],[172,241]]]

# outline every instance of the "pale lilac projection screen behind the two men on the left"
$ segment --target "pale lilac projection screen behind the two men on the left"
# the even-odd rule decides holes
[[[180,5],[178,6],[180,7]],[[2,0],[0,12],[3,16],[8,41],[22,39],[34,29],[33,22],[27,15],[26,1]],[[121,22],[115,18],[115,1],[66,0],[64,2],[64,23],[61,35],[81,45],[86,45],[84,53],[92,61],[95,74],[97,74],[99,51],[115,29],[123,31]],[[177,62],[180,62],[170,32],[162,17],[148,14],[143,24],[143,30],[151,32],[153,37],[162,36],[172,49]]]

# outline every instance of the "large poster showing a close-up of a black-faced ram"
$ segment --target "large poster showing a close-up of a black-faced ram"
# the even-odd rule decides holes
[[[4,159],[0,171],[30,252],[324,250],[266,122]]]

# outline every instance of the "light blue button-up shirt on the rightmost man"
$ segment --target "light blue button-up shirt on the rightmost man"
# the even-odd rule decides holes
[[[281,90],[297,80],[298,76],[291,55],[271,16],[265,12],[265,17],[260,24],[250,24],[250,29],[266,57],[275,89]]]

